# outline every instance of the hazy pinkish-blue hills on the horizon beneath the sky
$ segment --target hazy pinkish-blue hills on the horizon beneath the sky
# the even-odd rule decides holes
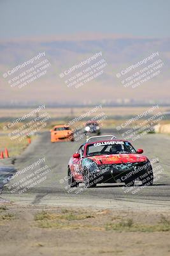
[[[170,39],[132,38],[117,35],[76,35],[66,37],[15,39],[0,42],[0,72],[24,63],[46,52],[52,66],[47,74],[24,88],[11,88],[7,80],[0,78],[0,99],[37,100],[39,102],[99,102],[113,99],[162,99],[169,95]],[[102,52],[108,66],[104,74],[78,89],[67,88],[59,74],[96,52]],[[159,52],[164,61],[160,75],[138,88],[124,88],[116,74],[133,63],[143,60],[152,52]],[[156,59],[155,59],[156,60]],[[31,66],[30,66],[31,67]],[[142,67],[145,67],[143,65]],[[2,97],[3,95],[3,97]]]

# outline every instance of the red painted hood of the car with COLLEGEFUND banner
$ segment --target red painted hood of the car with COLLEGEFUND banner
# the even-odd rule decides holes
[[[122,163],[136,163],[144,162],[147,160],[146,156],[139,154],[116,154],[116,155],[103,155],[87,157],[92,159],[97,164],[122,164]]]

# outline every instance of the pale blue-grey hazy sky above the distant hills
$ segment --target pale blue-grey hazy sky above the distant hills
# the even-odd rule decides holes
[[[169,0],[0,0],[0,38],[83,32],[169,37]]]

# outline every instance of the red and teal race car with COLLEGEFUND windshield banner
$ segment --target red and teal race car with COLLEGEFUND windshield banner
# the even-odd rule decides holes
[[[91,137],[73,154],[68,163],[69,186],[77,187],[81,182],[87,188],[98,183],[120,182],[134,186],[135,180],[152,185],[152,165],[146,156],[141,156],[143,150],[135,150],[129,141],[109,136],[110,140],[100,141],[92,140],[105,136]]]

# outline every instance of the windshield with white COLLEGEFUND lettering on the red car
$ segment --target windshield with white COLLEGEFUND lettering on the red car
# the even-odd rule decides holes
[[[128,141],[103,141],[87,146],[87,156],[136,153]]]

